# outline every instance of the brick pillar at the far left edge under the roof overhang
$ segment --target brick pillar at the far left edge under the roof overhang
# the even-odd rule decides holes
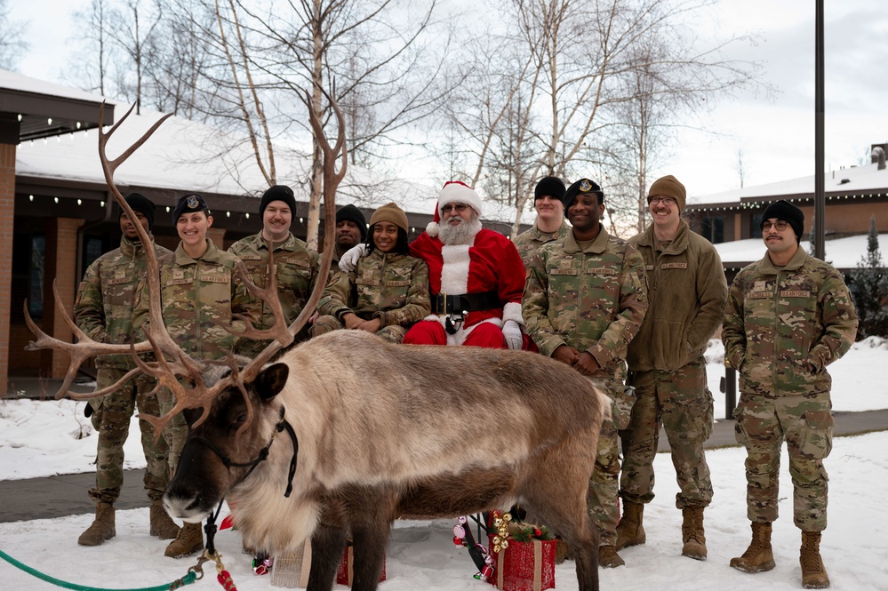
[[[9,320],[12,291],[12,220],[15,208],[15,146],[0,144],[0,387],[9,377]]]

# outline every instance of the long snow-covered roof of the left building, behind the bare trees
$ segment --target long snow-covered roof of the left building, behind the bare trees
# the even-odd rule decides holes
[[[126,107],[118,107],[118,120]],[[147,111],[128,116],[108,141],[108,157],[119,155],[162,116]],[[277,182],[290,185],[298,200],[307,201],[309,156],[285,146],[276,145],[275,150]],[[74,132],[23,142],[16,151],[16,173],[38,179],[103,184],[98,132]],[[268,186],[245,135],[222,132],[179,116],[171,116],[161,124],[121,165],[115,180],[124,186],[203,191],[245,199],[258,199]],[[430,185],[382,178],[372,171],[349,165],[337,191],[337,203],[376,208],[394,201],[406,212],[432,215],[437,193],[438,188]],[[510,224],[515,219],[515,210],[484,200],[483,218]],[[532,223],[532,214],[525,223]]]

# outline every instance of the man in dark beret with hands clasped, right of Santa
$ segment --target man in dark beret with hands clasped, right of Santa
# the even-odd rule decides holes
[[[564,206],[572,232],[543,244],[527,270],[524,324],[542,355],[572,365],[613,400],[612,420],[598,439],[589,482],[589,514],[600,535],[599,563],[624,564],[617,555],[617,430],[626,427],[635,397],[623,385],[626,351],[647,310],[644,260],[600,223],[604,193],[582,179],[567,189]]]

